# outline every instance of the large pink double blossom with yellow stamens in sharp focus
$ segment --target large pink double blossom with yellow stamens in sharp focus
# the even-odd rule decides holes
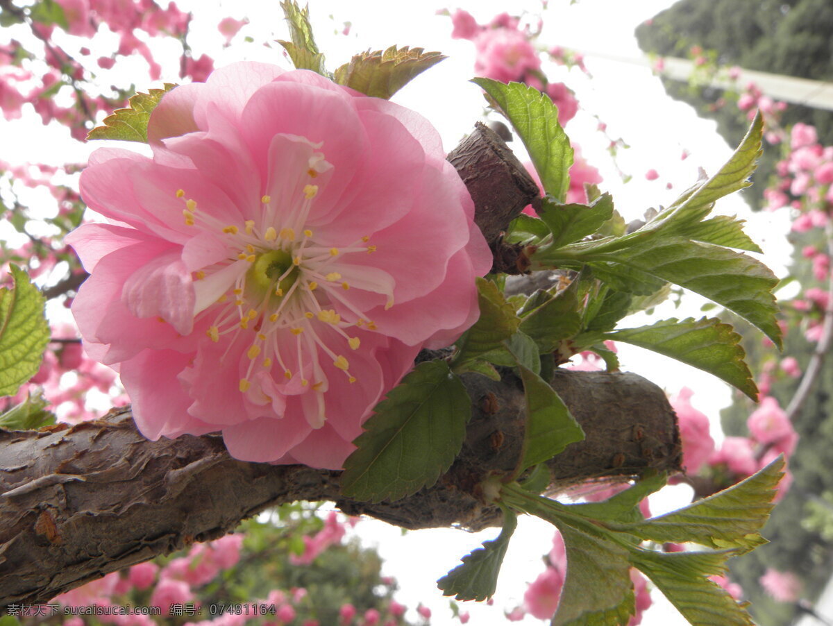
[[[222,430],[241,460],[336,469],[421,347],[478,315],[491,256],[436,130],[307,71],[238,63],[177,87],[153,157],[81,177],[112,224],[68,241],[72,305],[152,440]]]

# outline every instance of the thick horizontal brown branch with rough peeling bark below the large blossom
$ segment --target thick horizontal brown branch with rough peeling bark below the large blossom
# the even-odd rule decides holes
[[[408,529],[496,524],[499,515],[478,497],[478,484],[516,466],[523,391],[511,372],[500,383],[464,380],[473,412],[461,454],[430,489],[392,503],[343,498],[339,472],[234,460],[217,435],[147,441],[128,409],[77,426],[0,430],[0,607],[46,602],[297,500],[332,500],[348,514]],[[553,489],[626,479],[649,467],[679,469],[675,416],[650,381],[558,372],[553,386],[587,435],[551,461]]]

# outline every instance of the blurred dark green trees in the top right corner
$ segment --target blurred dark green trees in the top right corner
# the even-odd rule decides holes
[[[717,62],[760,72],[833,79],[833,3],[830,0],[681,0],[641,24],[636,38],[642,50],[661,56],[686,57],[691,46],[717,51]],[[734,102],[715,108],[724,93],[714,87],[690,87],[663,79],[666,90],[714,119],[718,132],[734,145],[746,132],[747,121]],[[744,87],[743,85],[739,86]],[[791,105],[782,117],[785,126],[805,122],[816,127],[822,144],[833,144],[833,112]],[[753,206],[774,171],[780,151],[765,151],[744,192]]]

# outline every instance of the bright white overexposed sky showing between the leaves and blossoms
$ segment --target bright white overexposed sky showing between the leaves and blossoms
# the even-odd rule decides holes
[[[462,7],[478,21],[488,22],[491,17],[510,7],[511,12],[526,10],[540,13],[541,2],[440,2],[311,0],[310,11],[317,42],[327,55],[330,68],[347,62],[356,52],[392,44],[419,46],[446,54],[448,59],[417,77],[393,100],[427,117],[441,132],[446,150],[451,150],[466,132],[470,132],[474,122],[482,119],[485,101],[480,89],[468,82],[474,75],[473,45],[467,41],[451,40],[450,19],[436,15],[436,10]],[[547,47],[560,45],[603,52],[606,57],[633,57],[641,54],[636,47],[633,29],[672,3],[672,0],[580,0],[571,4],[570,0],[550,0],[548,10],[543,13],[544,31],[540,42]],[[196,56],[207,52],[214,57],[217,67],[244,58],[286,63],[282,60],[280,47],[262,45],[262,42],[275,38],[288,38],[277,2],[181,0],[177,4],[194,12],[189,43]],[[217,22],[226,16],[247,17],[250,23],[243,28],[232,47],[222,48]],[[351,22],[347,35],[342,34],[346,22]],[[242,43],[242,38],[246,36],[252,37],[255,43]],[[102,42],[107,41],[106,33],[101,37]],[[169,62],[163,62],[166,75],[162,78],[176,82],[176,46],[167,52],[160,51],[157,58],[164,60],[166,54]],[[566,132],[581,145],[588,161],[600,169],[604,176],[602,188],[611,191],[616,208],[626,221],[641,216],[648,207],[669,204],[696,181],[698,167],[711,174],[730,157],[732,149],[716,134],[714,123],[701,120],[691,107],[667,97],[659,78],[653,76],[648,68],[591,54],[586,57],[586,66],[592,78],[575,70],[566,72],[562,67],[545,67],[545,70],[551,71],[553,80],[562,80],[576,91],[582,109],[567,125]],[[138,57],[117,67],[122,76],[127,72],[137,77],[132,82],[140,91],[158,86],[149,81],[142,83],[141,77],[147,76],[147,69]],[[106,78],[106,72],[102,73]],[[609,137],[597,130],[600,120],[606,123],[609,137],[621,138],[630,146],[619,152],[616,163],[611,161],[606,151]],[[0,120],[2,143],[16,146],[15,160],[56,164],[83,161],[97,147],[68,142],[55,134],[60,130],[40,127],[37,122],[27,123],[25,135],[20,134],[20,128],[20,124],[10,125]],[[24,137],[26,141],[19,141]],[[517,148],[517,143],[511,146]],[[686,160],[681,159],[684,150],[690,153]],[[0,158],[7,161],[12,161],[11,157],[0,153]],[[656,181],[646,180],[645,173],[649,169],[659,172],[660,177]],[[624,182],[620,172],[630,176],[630,181]],[[669,185],[671,189],[666,188]],[[750,216],[748,207],[739,197],[719,202],[716,213]],[[776,273],[782,274],[789,250],[784,237],[789,229],[786,216],[756,215],[750,226],[751,236],[766,252],[765,261]],[[678,318],[701,316],[699,307],[703,302],[692,296],[686,298],[686,304],[679,309],[670,305],[660,307],[658,315]],[[645,319],[629,321],[632,325],[647,323]],[[692,404],[710,415],[714,424],[718,421],[718,410],[729,403],[729,388],[711,375],[638,348],[629,349],[629,346],[622,346],[620,356],[623,369],[646,375],[669,393],[676,392],[682,385],[691,387],[695,390]],[[680,487],[651,504],[656,514],[662,509],[687,504],[688,497],[686,488]],[[481,534],[446,529],[403,535],[400,529],[375,521],[359,524],[357,532],[363,542],[377,544],[386,561],[385,573],[399,580],[402,589],[397,599],[409,607],[415,607],[420,602],[429,606],[434,614],[431,620],[434,626],[459,624],[451,619],[447,609],[448,599],[441,597],[434,581],[455,567],[461,556],[476,548],[481,541],[493,539],[497,534],[496,529]],[[471,611],[470,624],[502,623],[495,610],[498,607],[511,609],[521,604],[526,584],[543,569],[541,555],[549,551],[551,537],[551,527],[540,520],[522,521],[501,574],[496,607],[464,607],[464,610]],[[668,609],[660,594],[654,594],[654,599],[658,606],[649,610],[642,624],[686,624],[679,614]],[[415,615],[411,614],[411,617]],[[541,622],[526,619],[522,624]]]

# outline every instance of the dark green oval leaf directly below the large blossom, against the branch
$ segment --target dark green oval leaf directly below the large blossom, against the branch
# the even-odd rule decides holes
[[[431,360],[416,365],[374,411],[342,474],[342,492],[366,502],[436,483],[466,438],[471,400],[446,362]]]

